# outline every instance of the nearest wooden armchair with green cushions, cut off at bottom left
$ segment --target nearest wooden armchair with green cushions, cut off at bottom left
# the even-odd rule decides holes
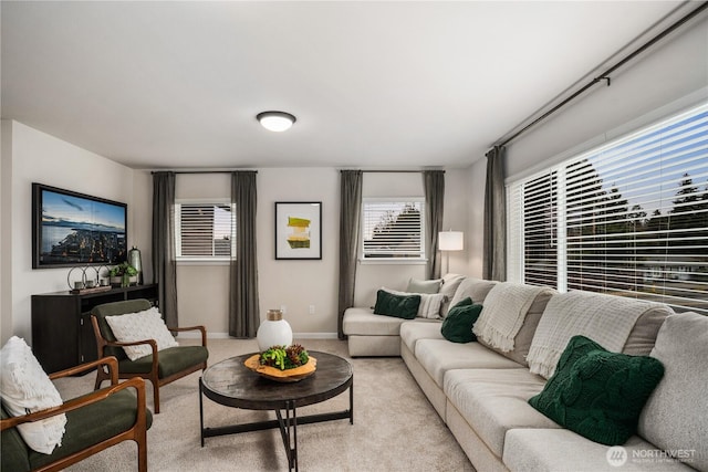
[[[114,357],[61,370],[49,377],[54,380],[96,367],[108,369],[111,387],[31,415],[10,417],[2,409],[0,469],[13,472],[60,471],[129,439],[137,443],[138,471],[147,471],[146,432],[153,424],[153,415],[145,408],[145,381],[142,378],[118,384],[118,363]],[[3,381],[8,380],[3,379]],[[62,445],[56,447],[51,454],[43,454],[28,448],[15,427],[61,413],[66,413]]]

